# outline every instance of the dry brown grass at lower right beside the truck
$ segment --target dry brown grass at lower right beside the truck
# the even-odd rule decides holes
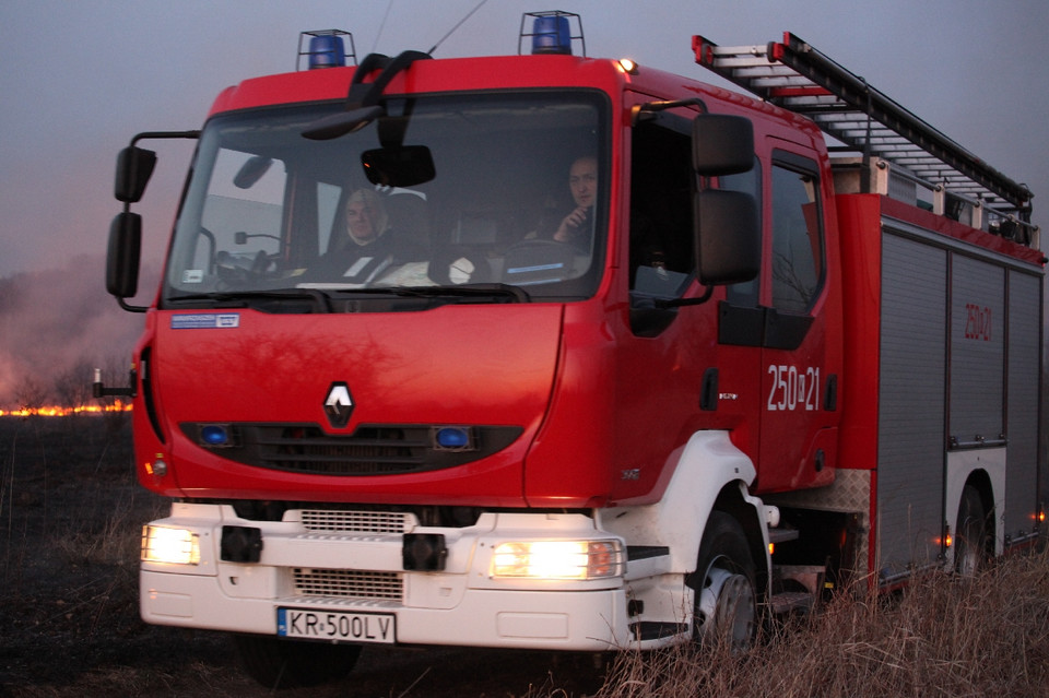
[[[1049,556],[974,579],[930,573],[893,596],[840,594],[740,655],[627,652],[596,696],[1049,696]]]

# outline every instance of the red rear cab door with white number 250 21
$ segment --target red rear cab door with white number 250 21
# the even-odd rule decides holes
[[[840,299],[827,263],[827,182],[814,153],[779,141],[770,153],[757,476],[763,492],[833,480],[840,367],[828,322]]]

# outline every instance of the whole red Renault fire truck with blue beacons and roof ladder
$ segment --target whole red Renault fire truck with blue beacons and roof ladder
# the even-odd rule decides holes
[[[694,38],[755,98],[526,25],[529,55],[360,64],[307,33],[310,70],[121,153],[107,287],[145,329],[96,389],[172,499],[143,618],[309,684],[369,642],[745,642],[1030,545],[1027,188],[790,34]],[[198,143],[145,308],[157,138]]]

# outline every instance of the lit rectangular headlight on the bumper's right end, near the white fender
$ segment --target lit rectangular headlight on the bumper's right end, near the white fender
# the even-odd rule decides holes
[[[492,556],[493,577],[599,579],[623,573],[618,541],[500,543]]]

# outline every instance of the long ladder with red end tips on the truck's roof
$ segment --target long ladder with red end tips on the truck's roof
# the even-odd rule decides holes
[[[809,117],[849,149],[899,165],[920,179],[1030,222],[1021,185],[793,34],[767,46],[723,47],[692,39],[696,62],[762,99]]]

